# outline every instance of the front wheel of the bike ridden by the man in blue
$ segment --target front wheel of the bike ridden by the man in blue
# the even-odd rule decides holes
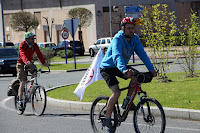
[[[153,98],[138,103],[133,117],[136,133],[164,133],[165,113],[161,104]]]

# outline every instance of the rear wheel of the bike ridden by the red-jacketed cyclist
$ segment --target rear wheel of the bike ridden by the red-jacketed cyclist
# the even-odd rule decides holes
[[[14,103],[15,103],[15,110],[17,112],[18,115],[22,115],[26,109],[26,100],[25,100],[25,94],[23,93],[23,109],[20,110],[19,109],[19,96],[15,96],[14,98]]]

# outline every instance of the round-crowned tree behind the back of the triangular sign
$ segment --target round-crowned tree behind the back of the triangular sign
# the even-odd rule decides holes
[[[88,27],[91,24],[93,14],[86,8],[73,8],[68,12],[70,18],[80,19],[79,23],[79,40],[82,42],[82,31],[81,28]]]

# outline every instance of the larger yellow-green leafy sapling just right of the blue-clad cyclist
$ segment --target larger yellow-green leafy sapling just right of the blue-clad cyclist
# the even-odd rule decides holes
[[[167,7],[166,4],[156,4],[150,8],[144,7],[141,17],[143,21],[141,32],[154,56],[152,62],[155,69],[159,70],[158,77],[161,82],[171,81],[167,77],[167,70],[170,69],[169,52],[175,43],[173,35],[177,32],[174,12],[168,12]],[[167,27],[170,27],[169,31],[167,31]],[[167,38],[168,34],[170,36]]]

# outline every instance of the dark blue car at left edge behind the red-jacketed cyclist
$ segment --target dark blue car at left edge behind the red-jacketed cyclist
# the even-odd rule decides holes
[[[0,48],[0,74],[17,75],[18,52],[14,48]]]

